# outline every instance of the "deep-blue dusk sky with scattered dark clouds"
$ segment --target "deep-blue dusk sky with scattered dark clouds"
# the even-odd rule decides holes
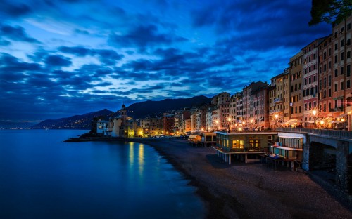
[[[330,25],[307,0],[0,0],[0,121],[270,81]]]

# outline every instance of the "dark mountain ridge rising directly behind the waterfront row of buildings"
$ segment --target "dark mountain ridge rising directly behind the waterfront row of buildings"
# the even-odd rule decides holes
[[[211,98],[200,95],[193,98],[185,99],[165,99],[160,101],[144,101],[137,102],[127,109],[127,115],[134,119],[143,119],[148,116],[161,115],[163,112],[171,110],[183,110],[184,107],[199,107],[201,105],[209,104]]]

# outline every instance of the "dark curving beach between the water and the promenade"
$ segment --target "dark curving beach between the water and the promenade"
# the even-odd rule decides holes
[[[191,185],[207,218],[352,218],[352,207],[334,186],[305,171],[262,163],[222,161],[211,147],[180,138],[133,140],[154,147]]]

